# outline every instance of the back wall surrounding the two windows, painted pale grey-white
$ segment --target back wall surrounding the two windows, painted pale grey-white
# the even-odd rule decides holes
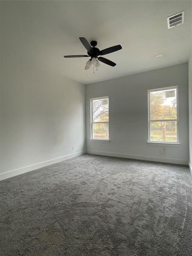
[[[99,74],[99,71],[98,71]],[[148,90],[178,86],[178,147],[147,144]],[[109,96],[109,143],[90,141],[90,98]],[[86,86],[87,152],[111,156],[188,164],[188,65],[153,70]]]

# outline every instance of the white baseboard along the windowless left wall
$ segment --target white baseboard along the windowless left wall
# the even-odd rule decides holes
[[[16,176],[16,175],[20,175],[20,174],[25,173],[25,172],[30,172],[30,171],[42,168],[44,166],[49,166],[53,163],[58,163],[58,162],[61,162],[61,161],[64,161],[64,160],[67,160],[67,159],[70,159],[70,158],[73,158],[73,157],[78,157],[78,156],[80,156],[82,154],[85,154],[85,153],[86,153],[86,151],[79,151],[79,152],[76,152],[76,153],[73,153],[73,154],[68,154],[66,156],[57,157],[57,158],[54,158],[54,159],[51,159],[51,160],[48,160],[48,161],[44,161],[44,162],[41,162],[41,163],[35,163],[35,164],[30,165],[30,166],[25,166],[25,167],[15,169],[15,170],[12,170],[12,171],[9,171],[9,172],[4,172],[4,173],[0,174],[0,180],[4,180],[4,179],[7,179],[7,178]]]

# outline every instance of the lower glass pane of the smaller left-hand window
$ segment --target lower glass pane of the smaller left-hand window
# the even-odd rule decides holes
[[[108,123],[93,124],[93,139],[108,139],[108,138],[109,138]]]

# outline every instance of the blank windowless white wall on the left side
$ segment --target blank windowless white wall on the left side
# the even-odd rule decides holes
[[[83,154],[86,138],[84,85],[39,63],[35,47],[42,45],[41,34],[34,39],[27,22],[18,26],[17,17],[21,18],[17,11],[9,9],[5,2],[1,7],[0,173],[3,179]]]

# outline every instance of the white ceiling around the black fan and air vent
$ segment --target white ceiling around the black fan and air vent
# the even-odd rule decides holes
[[[15,3],[14,3],[15,2]],[[47,70],[90,84],[188,61],[191,47],[191,1],[7,1],[17,38],[25,38],[31,58]],[[12,5],[12,6],[10,6]],[[184,24],[167,28],[166,18],[185,11]],[[11,13],[10,13],[11,12]],[[13,29],[15,31],[15,29]],[[117,63],[84,70],[88,58],[79,37],[96,40],[101,50],[116,44],[122,50],[105,55]],[[163,58],[155,59],[157,54]],[[88,74],[88,76],[84,76]]]

